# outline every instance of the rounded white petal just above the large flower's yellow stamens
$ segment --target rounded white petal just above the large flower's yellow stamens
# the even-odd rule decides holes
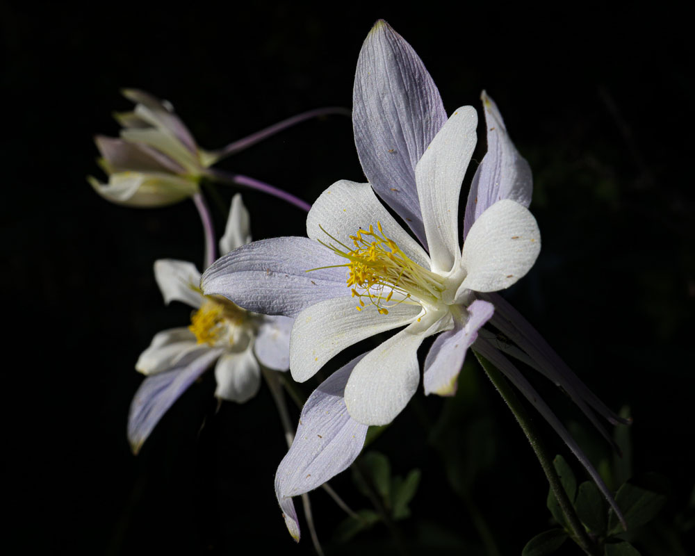
[[[306,217],[306,235],[323,243],[336,245],[327,234],[352,249],[350,236],[359,229],[377,228],[381,222],[384,234],[418,265],[430,270],[430,258],[395,218],[377,199],[369,183],[356,183],[345,179],[336,181],[311,207]],[[336,245],[344,250],[340,245]],[[345,259],[347,262],[347,259]]]

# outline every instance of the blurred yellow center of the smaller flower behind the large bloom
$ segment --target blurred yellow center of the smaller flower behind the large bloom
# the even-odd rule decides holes
[[[190,318],[188,329],[195,334],[198,343],[208,345],[233,345],[236,329],[247,318],[247,311],[229,300],[207,297]]]

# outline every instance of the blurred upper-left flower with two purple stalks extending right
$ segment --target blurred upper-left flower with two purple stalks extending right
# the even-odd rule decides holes
[[[222,158],[313,117],[350,115],[345,108],[336,106],[316,108],[288,117],[221,149],[208,151],[197,145],[168,101],[161,101],[136,89],[125,89],[122,93],[136,106],[132,112],[115,115],[123,126],[120,138],[95,137],[101,153],[99,164],[108,174],[108,183],[101,183],[91,176],[88,181],[105,199],[128,206],[164,206],[194,197],[199,192],[200,180],[207,177],[220,183],[260,190],[309,210],[309,204],[291,193],[263,181],[211,166]]]

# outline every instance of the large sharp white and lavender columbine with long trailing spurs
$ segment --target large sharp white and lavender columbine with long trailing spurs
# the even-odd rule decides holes
[[[338,181],[325,190],[309,212],[309,238],[245,245],[203,276],[206,293],[252,311],[295,318],[290,369],[300,382],[346,347],[404,327],[336,371],[307,400],[275,477],[295,538],[299,528],[291,497],[349,466],[367,425],[389,423],[398,415],[420,379],[418,347],[434,334],[439,336],[425,359],[425,393],[454,393],[473,345],[541,411],[607,493],[562,423],[487,339],[495,335],[482,329],[490,321],[516,342],[521,350],[499,349],[563,386],[594,423],[589,405],[615,419],[528,323],[492,293],[528,272],[539,254],[540,235],[526,208],[532,191],[528,163],[509,140],[496,105],[484,93],[482,99],[488,152],[471,184],[461,249],[459,190],[475,147],[475,110],[465,106],[447,119],[420,58],[390,26],[377,22],[359,56],[353,97],[355,144],[369,183]],[[377,195],[407,222],[419,243]]]

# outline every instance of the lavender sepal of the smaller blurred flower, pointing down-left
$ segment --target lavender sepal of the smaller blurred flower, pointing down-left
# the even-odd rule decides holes
[[[188,386],[220,357],[222,351],[207,350],[193,361],[188,361],[188,364],[149,376],[140,384],[128,416],[128,440],[133,453],[140,451],[142,443],[147,440],[162,416]]]

